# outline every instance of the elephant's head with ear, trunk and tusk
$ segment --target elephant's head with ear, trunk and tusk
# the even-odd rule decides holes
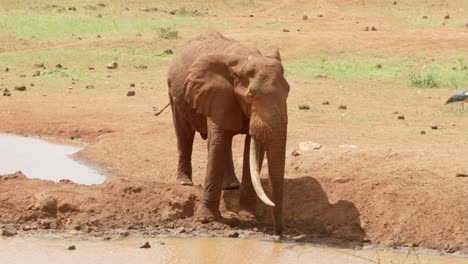
[[[251,136],[250,170],[260,199],[274,206],[275,232],[282,232],[283,179],[289,84],[279,52],[273,56],[212,54],[191,66],[185,79],[185,100],[225,130]],[[264,154],[272,200],[260,184]]]

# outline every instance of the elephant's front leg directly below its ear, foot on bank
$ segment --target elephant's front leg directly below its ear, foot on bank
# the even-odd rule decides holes
[[[223,131],[209,118],[208,125],[208,164],[204,184],[203,201],[196,217],[204,222],[221,218],[219,203],[223,188],[223,177],[233,134]]]

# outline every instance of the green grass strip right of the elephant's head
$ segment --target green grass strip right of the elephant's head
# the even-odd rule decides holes
[[[319,58],[285,63],[288,74],[331,78],[393,78],[420,88],[468,86],[468,69],[459,57],[420,65],[399,58]]]

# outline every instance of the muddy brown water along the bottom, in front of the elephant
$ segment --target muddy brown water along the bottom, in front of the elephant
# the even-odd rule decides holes
[[[152,247],[139,248],[148,241]],[[74,245],[76,250],[67,250]],[[468,258],[352,250],[240,238],[59,240],[0,238],[1,263],[405,263],[459,264]]]

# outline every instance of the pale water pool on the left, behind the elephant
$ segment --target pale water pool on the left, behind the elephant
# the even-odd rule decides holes
[[[80,164],[72,155],[83,147],[70,142],[0,134],[0,174],[23,172],[30,178],[68,179],[80,184],[100,184],[105,177]]]

